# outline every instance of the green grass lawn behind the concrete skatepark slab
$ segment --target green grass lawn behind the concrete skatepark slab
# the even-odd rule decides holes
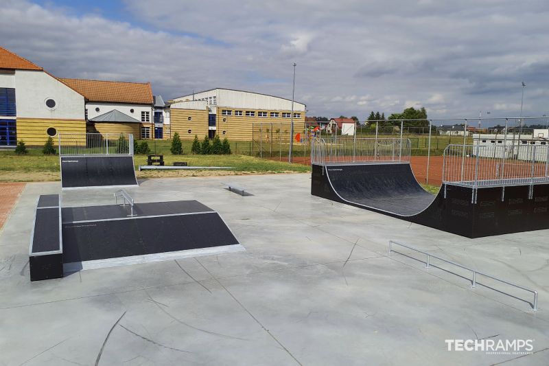
[[[173,165],[174,161],[187,161],[189,165],[230,166],[235,169],[137,171],[138,178],[310,172],[310,167],[307,165],[270,161],[246,155],[172,155],[170,145],[165,141],[157,144],[156,148],[157,153],[164,154],[166,165]],[[60,179],[57,155],[45,156],[40,148],[29,148],[28,150],[27,155],[16,155],[13,150],[0,151],[0,181],[30,182],[58,181]],[[189,150],[190,146],[184,151],[189,152]],[[146,165],[146,163],[145,155],[135,155],[136,170],[137,165]]]

